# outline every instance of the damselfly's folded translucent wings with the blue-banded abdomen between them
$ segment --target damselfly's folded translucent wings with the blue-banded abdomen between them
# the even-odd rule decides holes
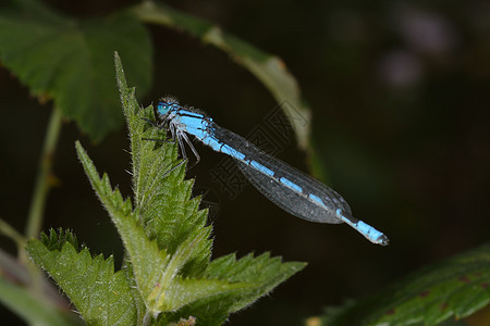
[[[351,214],[351,208],[333,189],[259,150],[245,138],[222,127],[209,130],[215,148],[229,154],[248,180],[286,212],[317,223],[338,224],[338,209]],[[209,145],[209,143],[208,143]]]

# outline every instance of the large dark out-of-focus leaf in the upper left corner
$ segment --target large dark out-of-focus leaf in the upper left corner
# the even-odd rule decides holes
[[[114,87],[113,51],[145,93],[151,80],[151,47],[134,16],[75,20],[37,1],[10,0],[0,9],[0,61],[41,99],[95,140],[123,122]]]

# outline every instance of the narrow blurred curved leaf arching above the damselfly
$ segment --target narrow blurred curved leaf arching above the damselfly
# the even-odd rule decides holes
[[[160,2],[145,1],[134,7],[133,12],[144,22],[187,32],[205,43],[226,52],[233,61],[248,70],[269,89],[289,117],[299,147],[308,149],[310,109],[302,98],[296,79],[280,58],[257,49],[210,22]]]

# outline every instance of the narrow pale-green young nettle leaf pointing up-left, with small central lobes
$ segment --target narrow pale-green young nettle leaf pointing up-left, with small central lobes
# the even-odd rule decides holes
[[[195,258],[196,248],[203,247],[209,237],[209,228],[205,227],[188,235],[172,254],[159,249],[155,240],[150,240],[139,224],[137,213],[131,209],[130,200],[123,200],[119,190],[111,188],[109,177],[99,177],[94,163],[79,142],[76,142],[78,158],[100,201],[112,218],[127,250],[132,263],[137,288],[150,315],[175,311],[200,298],[206,298],[226,287],[236,288],[223,281],[203,280],[201,288],[185,287],[181,272]],[[198,252],[200,252],[198,250]],[[195,284],[194,284],[195,285]]]

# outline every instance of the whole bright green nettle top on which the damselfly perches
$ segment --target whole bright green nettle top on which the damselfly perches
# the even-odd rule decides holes
[[[87,324],[220,325],[304,264],[282,263],[269,254],[210,262],[211,227],[205,225],[207,212],[199,211],[199,199],[191,198],[193,180],[184,180],[185,164],[173,143],[147,140],[166,135],[149,122],[151,108],[140,109],[134,89],[127,88],[118,54],[115,66],[130,128],[134,205],[112,188],[107,174],[100,177],[81,143],[75,147],[124,243],[123,267],[114,274],[112,258],[93,259],[87,249],[77,252],[76,238],[69,231],[32,240],[29,254],[68,293]]]

